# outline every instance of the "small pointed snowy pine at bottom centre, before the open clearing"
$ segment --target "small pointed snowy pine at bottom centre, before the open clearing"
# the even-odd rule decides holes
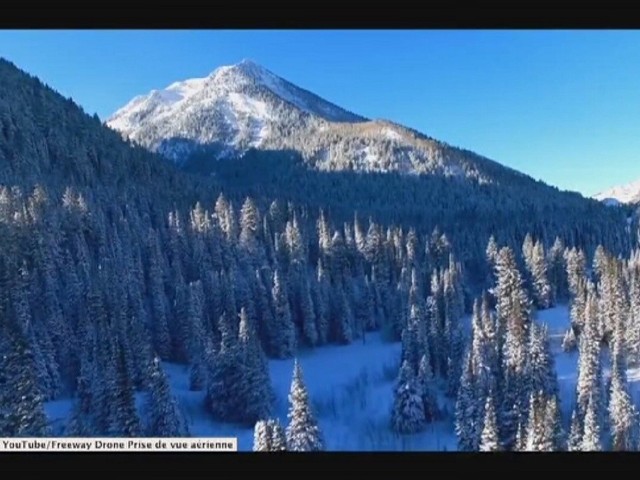
[[[302,367],[296,360],[289,392],[289,425],[286,430],[287,450],[317,452],[324,450],[320,428],[311,411],[309,393],[302,377]]]

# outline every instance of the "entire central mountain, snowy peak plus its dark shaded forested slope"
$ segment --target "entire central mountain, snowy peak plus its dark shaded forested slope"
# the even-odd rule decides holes
[[[420,234],[437,226],[477,279],[492,235],[518,250],[527,232],[548,244],[557,236],[587,250],[628,248],[619,209],[348,112],[250,61],[137,97],[107,125],[225,195],[322,209],[340,223],[357,214]]]

